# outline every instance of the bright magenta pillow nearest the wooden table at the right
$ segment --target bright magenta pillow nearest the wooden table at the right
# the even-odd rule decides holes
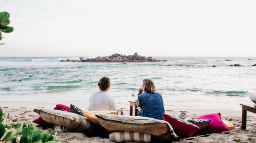
[[[221,113],[208,114],[194,119],[208,119],[211,120],[209,126],[206,129],[200,131],[201,133],[212,133],[217,131],[228,131],[229,128],[223,123],[221,119]]]

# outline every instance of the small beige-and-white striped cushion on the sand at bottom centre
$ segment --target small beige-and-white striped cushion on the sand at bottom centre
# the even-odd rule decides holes
[[[133,131],[117,131],[111,133],[109,139],[114,142],[137,141],[148,143],[151,141],[151,135]]]

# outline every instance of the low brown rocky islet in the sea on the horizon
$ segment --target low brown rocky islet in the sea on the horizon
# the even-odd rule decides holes
[[[167,60],[163,60],[163,62],[166,62]],[[162,62],[161,60],[153,59],[151,56],[140,56],[136,52],[134,55],[121,55],[121,54],[113,54],[112,56],[105,56],[101,57],[98,56],[95,59],[84,59],[83,57],[80,58],[80,61],[78,60],[69,60],[67,61],[61,60],[61,62]]]

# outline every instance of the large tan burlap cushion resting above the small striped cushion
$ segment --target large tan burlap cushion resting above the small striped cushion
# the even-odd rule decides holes
[[[109,132],[134,131],[151,134],[160,139],[178,138],[172,126],[164,120],[114,114],[97,114],[95,116],[100,124]]]

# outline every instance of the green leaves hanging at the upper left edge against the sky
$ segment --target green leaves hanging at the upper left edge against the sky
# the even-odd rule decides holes
[[[7,26],[10,24],[10,14],[8,12],[0,12],[0,31],[10,33],[13,31],[13,27]],[[0,40],[2,39],[2,33],[0,32]]]

